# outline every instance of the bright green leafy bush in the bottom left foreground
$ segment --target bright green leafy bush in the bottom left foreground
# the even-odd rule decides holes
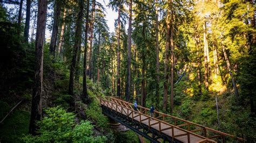
[[[44,110],[46,117],[37,121],[39,126],[35,137],[26,135],[25,142],[104,142],[105,137],[93,137],[93,126],[82,120],[76,124],[75,114],[66,112],[60,106]]]

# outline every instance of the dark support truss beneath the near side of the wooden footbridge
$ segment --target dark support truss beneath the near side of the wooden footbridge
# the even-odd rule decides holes
[[[156,129],[149,127],[143,123],[139,123],[137,120],[133,120],[130,117],[123,115],[115,110],[108,108],[107,106],[102,105],[102,112],[112,118],[113,120],[118,121],[122,125],[130,128],[132,131],[142,135],[146,139],[149,139],[151,142],[181,142],[177,139],[172,141],[172,138],[164,133],[160,133]]]

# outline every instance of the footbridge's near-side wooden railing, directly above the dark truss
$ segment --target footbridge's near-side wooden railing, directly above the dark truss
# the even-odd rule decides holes
[[[105,102],[107,102],[107,106],[110,105],[109,103],[111,103],[111,109],[112,109],[112,110],[113,110],[113,104],[116,105],[116,109],[115,109],[116,111],[118,111],[118,110],[117,110],[117,109],[118,109],[117,106],[121,106],[121,111],[120,111],[120,109],[119,109],[119,111],[122,112],[122,113],[123,113],[123,111],[124,111],[123,108],[124,108],[124,109],[127,109],[128,112],[127,112],[127,113],[125,112],[125,113],[126,113],[126,115],[127,115],[128,117],[132,114],[132,120],[133,120],[134,118],[138,117],[138,116],[140,116],[140,118],[139,118],[139,122],[140,122],[140,123],[141,123],[142,121],[144,121],[144,120],[149,120],[149,128],[151,127],[151,125],[159,124],[159,132],[162,131],[162,130],[161,130],[161,123],[171,126],[171,128],[169,128],[169,129],[172,129],[172,135],[170,135],[170,137],[172,137],[172,140],[175,138],[175,135],[174,135],[174,131],[173,131],[173,130],[174,130],[174,128],[177,128],[178,130],[181,130],[181,131],[186,132],[186,134],[181,134],[181,136],[187,135],[188,142],[190,142],[190,134],[195,135],[195,136],[197,136],[197,137],[199,137],[199,138],[201,138],[201,139],[204,139],[204,140],[207,140],[207,141],[210,141],[210,142],[215,142],[214,140],[208,139],[208,138],[203,137],[203,136],[201,136],[201,135],[199,135],[199,134],[196,134],[196,133],[187,131],[187,130],[185,130],[184,128],[180,128],[180,127],[175,126],[175,125],[172,125],[172,124],[170,124],[170,123],[166,123],[165,121],[159,120],[159,119],[157,119],[157,118],[153,118],[153,117],[148,116],[148,115],[146,115],[146,114],[144,114],[144,113],[141,113],[141,112],[138,112],[138,111],[134,111],[134,110],[131,109],[131,108],[126,108],[126,107],[124,107],[123,105],[120,105],[120,104],[117,104],[117,103],[113,103],[113,102],[108,101],[108,100],[103,99],[103,98],[99,98],[99,99],[100,99],[100,104],[102,104],[102,101],[103,101],[103,104],[102,104],[102,105],[104,105],[104,106],[105,106]],[[131,111],[130,114],[129,114],[129,110]],[[137,113],[138,113],[138,115],[136,115],[135,117],[134,117],[134,112],[137,112]],[[141,115],[146,116],[147,118],[142,120],[142,119],[141,119]],[[158,122],[157,122],[157,123],[150,124],[151,119],[157,120]],[[166,128],[163,129],[163,130],[166,130]]]

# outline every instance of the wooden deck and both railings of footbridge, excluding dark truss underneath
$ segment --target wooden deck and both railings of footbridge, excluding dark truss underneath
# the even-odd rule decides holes
[[[241,138],[234,137],[233,135],[213,130],[212,128],[201,126],[174,116],[166,115],[158,111],[154,111],[154,117],[150,117],[150,109],[138,106],[138,111],[134,111],[132,108],[133,104],[117,97],[107,97],[107,99],[100,98],[100,104],[111,110],[122,113],[132,120],[136,120],[140,124],[144,124],[149,128],[154,128],[160,133],[168,135],[172,140],[176,139],[181,142],[216,142],[212,139],[220,138],[222,142],[225,142],[225,137],[227,136],[239,141],[245,141]]]

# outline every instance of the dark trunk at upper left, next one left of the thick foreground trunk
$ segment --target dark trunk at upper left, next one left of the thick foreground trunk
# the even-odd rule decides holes
[[[24,28],[25,42],[29,41],[30,7],[31,7],[31,0],[26,0],[26,21],[25,21],[25,28]]]

